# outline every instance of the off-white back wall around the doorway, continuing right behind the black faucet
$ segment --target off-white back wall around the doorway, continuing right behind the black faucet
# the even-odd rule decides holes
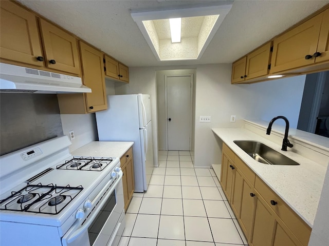
[[[222,142],[211,128],[243,126],[243,119],[269,120],[285,115],[297,126],[305,76],[277,79],[252,85],[231,85],[231,64],[130,68],[130,83],[116,83],[116,94],[151,94],[154,152],[157,151],[156,71],[196,69],[195,167],[221,162]],[[289,116],[288,116],[289,114]],[[210,115],[211,122],[199,122]],[[236,115],[236,122],[230,122]],[[295,123],[294,123],[295,122]],[[279,124],[280,122],[278,122]]]

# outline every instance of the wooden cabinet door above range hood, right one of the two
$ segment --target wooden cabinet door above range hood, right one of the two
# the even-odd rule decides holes
[[[40,19],[40,27],[46,66],[67,73],[80,74],[77,39],[43,19]]]

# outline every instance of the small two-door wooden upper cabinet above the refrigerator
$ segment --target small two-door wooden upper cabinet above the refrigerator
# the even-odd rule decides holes
[[[119,61],[105,55],[105,75],[129,83],[129,69]]]

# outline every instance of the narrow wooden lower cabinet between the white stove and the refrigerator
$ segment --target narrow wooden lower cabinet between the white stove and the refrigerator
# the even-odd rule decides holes
[[[124,199],[124,211],[127,211],[130,201],[133,197],[135,190],[135,179],[134,179],[134,161],[133,161],[133,148],[131,147],[124,155],[120,158],[121,169],[123,172],[122,183],[123,183],[123,199]]]

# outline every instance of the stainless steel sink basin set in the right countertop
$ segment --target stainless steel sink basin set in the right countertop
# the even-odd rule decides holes
[[[233,142],[258,162],[269,165],[299,165],[296,161],[291,160],[261,142],[246,140],[235,140]]]

